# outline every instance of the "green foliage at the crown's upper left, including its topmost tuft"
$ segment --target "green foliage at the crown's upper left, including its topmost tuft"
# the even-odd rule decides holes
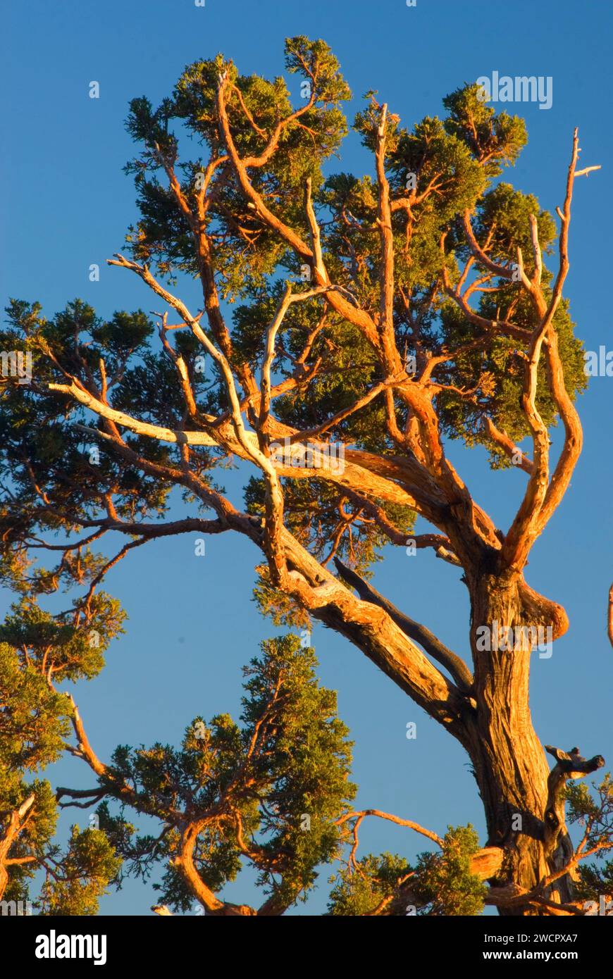
[[[198,272],[188,223],[177,214],[169,192],[159,182],[160,158],[156,147],[165,159],[175,160],[177,137],[169,127],[177,124],[197,146],[206,149],[206,157],[182,160],[180,164],[184,177],[182,190],[186,199],[194,203],[198,174],[206,171],[209,157],[214,160],[225,150],[220,143],[215,115],[218,79],[224,71],[228,78],[228,117],[234,143],[242,157],[258,157],[280,119],[306,110],[283,129],[278,152],[254,174],[256,187],[274,200],[275,210],[283,219],[304,224],[305,179],[309,176],[313,186],[319,186],[323,179],[321,164],[337,153],[347,132],[340,104],[351,97],[351,92],[339,72],[336,58],[323,41],[289,38],[285,54],[287,70],[298,74],[301,84],[307,85],[307,97],[300,99],[297,107],[290,102],[283,78],[268,81],[258,75],[241,75],[221,55],[188,66],[172,97],[163,100],[157,110],[144,97],[132,101],[126,127],[135,141],[144,144],[143,152],[126,166],[126,172],[134,175],[141,210],[141,220],[137,227],[130,228],[128,236],[136,257],[155,260],[159,270],[169,276],[173,269]],[[274,274],[276,264],[284,259],[286,249],[274,236],[259,228],[241,201],[234,178],[224,172],[223,180],[219,204],[209,220],[215,232],[215,264],[223,269],[223,295],[232,300],[249,296],[253,289],[261,287],[265,278]],[[245,236],[252,234],[258,238],[258,247],[246,249]]]

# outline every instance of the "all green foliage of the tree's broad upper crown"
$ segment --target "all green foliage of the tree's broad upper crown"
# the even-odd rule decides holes
[[[174,166],[183,198],[194,213],[204,193],[199,179],[212,167],[202,227],[208,235],[217,290],[221,299],[232,304],[230,359],[235,366],[245,362],[256,376],[267,325],[287,278],[300,278],[302,260],[259,220],[227,163],[228,148],[222,143],[217,118],[220,77],[226,78],[226,110],[236,149],[241,157],[259,163],[250,167],[255,190],[281,221],[308,241],[304,192],[309,177],[331,280],[375,320],[380,302],[376,179],[371,173],[329,172],[329,162],[347,133],[343,105],[351,92],[335,56],[321,40],[288,38],[285,65],[299,91],[294,85],[290,91],[281,76],[243,75],[217,54],[187,66],[159,106],[145,96],[134,99],[126,120],[137,144],[126,172],[135,180],[140,210],[128,234],[132,256],[169,280],[180,273],[201,274],[192,228],[167,187],[165,166]],[[492,235],[495,260],[515,261],[520,247],[528,272],[533,263],[530,214],[537,216],[545,255],[551,249],[555,224],[532,195],[495,179],[503,166],[516,161],[526,142],[525,125],[518,117],[496,114],[478,96],[476,85],[464,85],[443,100],[441,117],[428,116],[413,125],[403,124],[391,110],[387,114],[385,169],[393,206],[399,205],[392,214],[394,318],[398,349],[402,356],[416,357],[418,370],[431,354],[483,339],[481,349],[435,368],[433,380],[444,386],[435,396],[435,405],[444,435],[467,445],[486,445],[492,465],[502,468],[509,465],[508,458],[486,434],[485,419],[492,418],[515,443],[529,434],[520,403],[524,362],[516,343],[487,338],[466,321],[444,295],[442,270],[446,265],[455,281],[468,255],[460,227],[466,209],[474,214],[477,239],[483,243]],[[354,118],[354,130],[371,150],[381,113],[382,107],[369,93]],[[410,190],[408,175],[415,181]],[[441,249],[444,233],[447,254]],[[475,273],[480,270],[477,262]],[[545,268],[545,299],[550,283]],[[512,309],[514,321],[530,330],[535,314],[522,291],[507,281],[497,285],[494,294],[480,294],[477,311],[495,319]],[[7,312],[2,346],[31,350],[34,377],[31,385],[8,383],[3,388],[0,458],[11,473],[11,486],[0,494],[0,576],[23,593],[32,594],[32,588],[42,593],[60,583],[91,582],[104,562],[84,548],[72,558],[64,556],[55,568],[32,571],[27,565],[32,537],[47,532],[62,539],[79,521],[100,517],[101,501],[110,492],[119,519],[163,519],[174,481],[160,469],[143,472],[143,464],[174,467],[176,472],[178,462],[174,446],[131,435],[125,436],[125,443],[134,457],[118,456],[104,438],[77,427],[91,424],[87,410],[50,392],[48,384],[65,383],[69,373],[90,390],[92,385],[100,389],[103,358],[116,409],[173,429],[194,423],[185,417],[175,365],[167,350],[160,349],[154,325],[142,310],[119,310],[103,319],[87,303],[74,300],[46,319],[38,303],[13,300]],[[206,317],[202,325],[211,331]],[[565,382],[571,396],[576,396],[585,388],[586,376],[568,303],[561,303],[554,325]],[[172,346],[185,364],[197,412],[204,417],[227,410],[224,385],[209,354],[186,330],[172,334]],[[197,357],[206,361],[205,373],[199,370]],[[364,337],[324,297],[291,307],[278,337],[273,372],[275,383],[288,384],[285,394],[274,400],[275,415],[302,431],[316,429],[339,411],[349,410],[383,380],[381,365]],[[543,368],[537,403],[546,424],[553,426],[556,410]],[[402,429],[406,406],[397,404],[396,415]],[[102,423],[97,428],[103,431]],[[328,428],[326,438],[379,455],[398,451],[388,432],[383,396]],[[89,460],[92,443],[99,448],[99,464]],[[214,486],[213,470],[227,466],[229,460],[222,450],[199,448],[192,453],[192,463],[205,485]],[[330,555],[342,514],[349,513],[351,519],[341,527],[338,553],[360,572],[377,560],[386,538],[338,487],[313,479],[308,484],[286,481],[284,490],[287,526],[320,558]],[[184,499],[205,509],[185,489]],[[261,484],[248,482],[248,508],[260,512],[261,501]],[[387,507],[383,509],[390,518]],[[413,515],[407,508],[398,510],[393,523],[399,531],[410,532]],[[274,602],[268,605],[275,607]]]

